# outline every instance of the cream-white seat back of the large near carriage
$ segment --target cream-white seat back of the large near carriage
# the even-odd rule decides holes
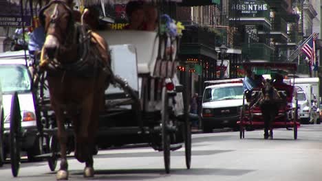
[[[108,45],[134,45],[138,60],[138,74],[153,74],[158,56],[159,38],[157,32],[107,30],[100,31],[98,34],[105,38]]]

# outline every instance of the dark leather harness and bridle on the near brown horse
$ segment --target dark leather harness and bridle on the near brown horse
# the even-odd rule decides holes
[[[57,3],[57,4],[63,4],[64,7],[68,10],[70,19],[69,19],[69,26],[71,31],[69,31],[69,34],[72,37],[72,41],[69,43],[68,38],[66,38],[65,43],[62,45],[62,47],[65,47],[65,49],[68,49],[68,45],[77,45],[77,58],[76,61],[72,63],[61,63],[54,58],[54,60],[48,61],[45,60],[43,55],[41,56],[41,62],[43,64],[40,64],[41,67],[46,67],[48,71],[49,76],[56,76],[61,73],[63,73],[63,77],[65,77],[66,73],[69,73],[72,76],[77,77],[83,77],[83,78],[91,78],[91,77],[97,77],[99,69],[103,69],[103,72],[107,75],[111,74],[111,68],[109,64],[104,64],[103,58],[100,56],[100,52],[98,51],[98,48],[94,43],[92,42],[92,38],[95,39],[94,36],[92,36],[92,31],[86,26],[81,25],[80,23],[74,23],[73,16],[72,16],[72,10],[69,8],[69,6],[61,0],[51,1],[48,5],[43,7],[41,12],[39,13],[39,17],[41,20],[42,25],[45,25],[45,17],[43,15],[43,12],[50,7],[50,5]],[[56,7],[57,8],[57,7]],[[56,24],[56,8],[54,10],[54,14],[51,16],[50,24]],[[60,49],[62,48],[60,47]],[[59,50],[58,49],[58,53]],[[82,52],[81,54],[79,52]],[[69,75],[69,76],[70,76]],[[63,81],[63,80],[62,80]]]

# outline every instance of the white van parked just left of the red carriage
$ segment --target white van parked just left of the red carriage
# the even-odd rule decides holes
[[[202,129],[237,128],[239,113],[243,106],[244,89],[242,79],[205,82],[202,96]]]

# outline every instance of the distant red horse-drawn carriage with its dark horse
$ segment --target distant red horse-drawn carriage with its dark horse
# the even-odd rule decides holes
[[[245,70],[255,73],[259,70],[261,70],[259,74],[270,73],[271,77],[277,73],[283,75],[297,71],[297,64],[283,62],[246,62],[242,66]],[[244,138],[246,128],[264,128],[264,138],[272,138],[273,128],[292,128],[294,139],[297,139],[299,122],[297,121],[297,102],[294,104],[294,101],[297,101],[294,81],[290,80],[288,84],[283,82],[277,84],[273,80],[263,80],[264,82],[253,90],[244,93],[240,120],[237,122],[240,138]]]

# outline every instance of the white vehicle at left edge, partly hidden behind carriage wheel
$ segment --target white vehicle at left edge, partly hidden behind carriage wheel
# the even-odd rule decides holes
[[[36,135],[36,114],[32,95],[32,77],[26,66],[24,51],[0,53],[0,82],[3,90],[4,152],[9,153],[10,108],[14,92],[18,93],[23,132],[21,149],[27,152],[28,160],[34,160],[43,152],[42,138]],[[4,154],[6,156],[6,154]]]

